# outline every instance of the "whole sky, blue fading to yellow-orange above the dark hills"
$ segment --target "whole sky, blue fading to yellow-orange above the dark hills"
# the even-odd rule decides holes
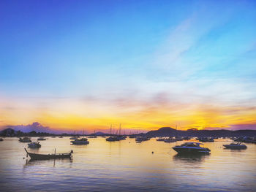
[[[256,129],[256,1],[0,1],[0,127]]]

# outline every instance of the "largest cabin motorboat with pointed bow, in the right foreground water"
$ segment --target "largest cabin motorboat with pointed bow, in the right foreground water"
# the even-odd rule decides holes
[[[211,150],[206,147],[200,147],[200,145],[203,145],[203,143],[185,142],[182,145],[173,147],[173,150],[175,150],[177,153],[210,153]]]

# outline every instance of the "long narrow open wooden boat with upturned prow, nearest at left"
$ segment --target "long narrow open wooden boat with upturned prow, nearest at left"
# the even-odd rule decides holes
[[[24,148],[26,150],[26,148]],[[38,153],[29,153],[26,150],[27,156],[32,160],[48,160],[48,159],[56,159],[56,158],[71,158],[73,150],[70,153],[53,153],[53,154],[38,154]]]

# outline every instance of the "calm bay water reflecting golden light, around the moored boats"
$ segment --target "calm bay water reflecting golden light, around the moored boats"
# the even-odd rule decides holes
[[[32,140],[36,141],[37,137]],[[0,142],[0,191],[256,191],[256,145],[225,150],[227,139],[206,143],[211,155],[180,156],[151,139],[70,145],[69,137],[41,141],[34,153],[74,150],[72,159],[29,161],[18,138]],[[154,151],[154,154],[151,152]]]

